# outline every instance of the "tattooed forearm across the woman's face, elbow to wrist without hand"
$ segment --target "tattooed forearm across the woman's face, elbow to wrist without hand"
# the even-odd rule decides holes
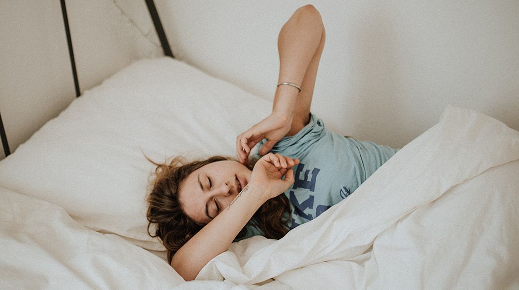
[[[240,230],[266,201],[262,194],[257,186],[245,186],[224,211],[174,254],[173,269],[186,281],[194,280],[212,258],[227,251]]]

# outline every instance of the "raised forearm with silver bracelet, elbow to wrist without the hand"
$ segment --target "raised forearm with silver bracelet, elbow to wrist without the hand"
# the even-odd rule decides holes
[[[320,44],[323,34],[324,26],[317,9],[307,5],[294,12],[281,28],[278,37],[280,62],[278,82],[302,85],[312,59],[322,46]],[[313,90],[313,83],[311,89]],[[290,119],[292,119],[298,94],[299,91],[293,86],[278,86],[272,112],[290,115]]]

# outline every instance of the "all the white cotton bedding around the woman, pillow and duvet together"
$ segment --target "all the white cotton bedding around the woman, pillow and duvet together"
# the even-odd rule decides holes
[[[455,107],[339,204],[185,282],[141,248],[161,245],[142,152],[232,156],[271,107],[169,57],[86,91],[0,161],[0,289],[519,288],[519,132]]]

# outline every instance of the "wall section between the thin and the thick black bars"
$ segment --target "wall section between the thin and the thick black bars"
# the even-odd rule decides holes
[[[135,60],[162,55],[143,0],[66,3],[82,92]]]

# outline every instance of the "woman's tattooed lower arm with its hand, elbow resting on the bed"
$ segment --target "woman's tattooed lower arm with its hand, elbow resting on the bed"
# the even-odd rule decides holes
[[[171,267],[186,281],[217,255],[227,251],[240,230],[268,199],[278,196],[294,183],[291,169],[299,161],[279,154],[263,156],[252,171],[251,181],[231,204],[189,239],[174,255]],[[281,178],[285,176],[285,179]]]

